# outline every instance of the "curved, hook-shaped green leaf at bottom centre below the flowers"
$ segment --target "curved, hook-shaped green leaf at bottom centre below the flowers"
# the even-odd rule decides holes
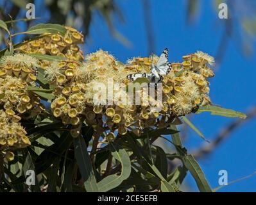
[[[117,145],[114,145],[114,143],[110,143],[110,150],[112,156],[121,162],[121,174],[119,176],[112,174],[99,181],[99,192],[107,192],[108,190],[112,190],[113,188],[119,186],[131,174],[132,166],[127,152]]]

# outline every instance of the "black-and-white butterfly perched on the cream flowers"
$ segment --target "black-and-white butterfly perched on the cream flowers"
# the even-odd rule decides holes
[[[168,62],[168,49],[166,48],[158,58],[157,65],[154,64],[152,56],[150,73],[130,74],[127,76],[127,78],[131,81],[135,81],[138,78],[148,78],[149,83],[160,83],[163,80],[162,76],[166,76],[170,70],[171,63]]]

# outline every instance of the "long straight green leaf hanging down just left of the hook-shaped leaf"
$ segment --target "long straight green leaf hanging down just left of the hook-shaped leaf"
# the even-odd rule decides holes
[[[99,192],[94,170],[83,138],[74,138],[74,154],[87,192]]]

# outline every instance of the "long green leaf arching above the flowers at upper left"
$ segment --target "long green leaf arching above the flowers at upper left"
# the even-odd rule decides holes
[[[43,34],[43,33],[60,33],[65,35],[66,29],[59,24],[37,24],[28,29],[28,31],[22,32],[26,34]]]

